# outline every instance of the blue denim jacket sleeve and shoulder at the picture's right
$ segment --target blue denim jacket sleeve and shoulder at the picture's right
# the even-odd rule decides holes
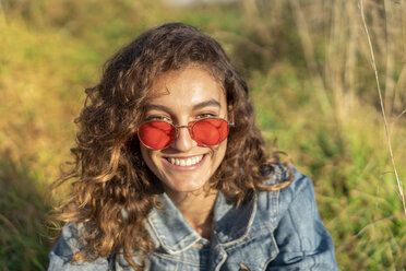
[[[294,166],[275,165],[270,186],[289,185],[260,193],[256,224],[272,222],[278,255],[272,270],[338,270],[333,240],[320,217],[312,180]]]

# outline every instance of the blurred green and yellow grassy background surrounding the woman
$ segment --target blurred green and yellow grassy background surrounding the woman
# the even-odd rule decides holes
[[[170,1],[175,2],[175,1]],[[46,270],[49,184],[103,62],[165,22],[219,40],[272,148],[314,180],[341,270],[406,270],[406,220],[359,1],[0,1],[0,270]],[[365,0],[390,139],[406,176],[406,2]],[[405,188],[405,186],[403,186]]]

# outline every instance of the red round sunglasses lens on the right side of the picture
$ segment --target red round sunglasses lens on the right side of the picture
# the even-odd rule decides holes
[[[194,140],[201,145],[217,145],[227,134],[228,123],[224,119],[202,119],[193,126]]]

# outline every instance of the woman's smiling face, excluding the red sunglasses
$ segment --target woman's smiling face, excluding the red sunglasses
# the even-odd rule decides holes
[[[227,102],[220,85],[203,68],[190,66],[156,79],[146,104],[145,120],[165,120],[177,126],[206,117],[227,119]],[[227,139],[215,146],[199,146],[187,128],[178,129],[172,144],[152,150],[140,143],[150,169],[168,193],[201,189],[220,165]],[[189,165],[188,165],[189,164]],[[191,165],[190,165],[191,164]]]

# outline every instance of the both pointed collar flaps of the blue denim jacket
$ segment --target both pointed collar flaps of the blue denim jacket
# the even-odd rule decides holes
[[[202,237],[189,225],[166,193],[159,196],[163,209],[153,209],[148,216],[148,231],[155,246],[168,254],[179,254],[193,246]],[[226,244],[246,236],[256,210],[255,199],[236,209],[219,192],[214,207],[212,239]],[[215,238],[216,237],[216,238]]]

